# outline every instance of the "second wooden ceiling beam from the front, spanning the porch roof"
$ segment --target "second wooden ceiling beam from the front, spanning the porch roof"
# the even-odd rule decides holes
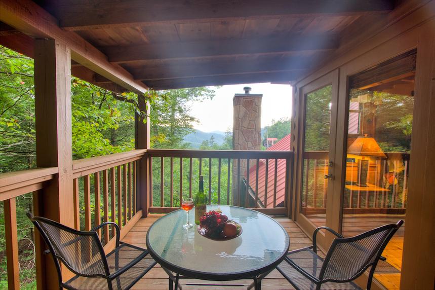
[[[128,63],[152,59],[195,59],[214,56],[279,54],[293,51],[337,49],[339,35],[290,35],[287,38],[243,40],[213,40],[181,42],[177,44],[145,44],[101,48],[110,62]]]

